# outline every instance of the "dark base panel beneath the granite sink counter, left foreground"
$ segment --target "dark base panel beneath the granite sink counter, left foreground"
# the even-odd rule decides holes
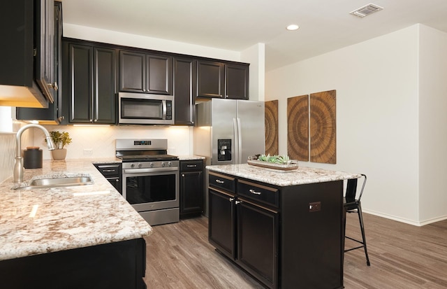
[[[0,261],[1,288],[143,289],[145,239]]]

